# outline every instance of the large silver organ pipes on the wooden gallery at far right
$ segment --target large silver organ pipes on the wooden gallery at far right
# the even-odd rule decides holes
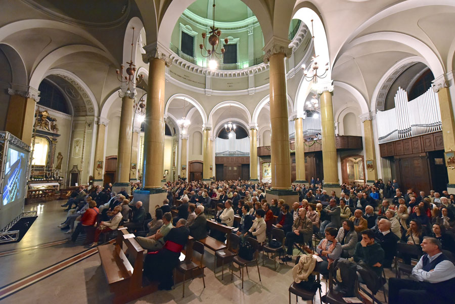
[[[418,98],[407,101],[401,88],[395,95],[395,108],[376,113],[379,143],[441,131],[438,95],[430,88]]]

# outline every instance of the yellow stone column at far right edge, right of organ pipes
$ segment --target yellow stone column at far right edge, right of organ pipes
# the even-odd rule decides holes
[[[455,119],[449,92],[450,83],[446,76],[442,75],[433,80],[433,91],[438,93],[439,110],[441,111],[442,138],[444,140],[444,151],[455,151]],[[455,191],[455,168],[447,167],[448,184],[447,191]]]

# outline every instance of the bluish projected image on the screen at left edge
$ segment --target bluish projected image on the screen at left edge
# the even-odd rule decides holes
[[[3,187],[3,205],[7,205],[23,196],[20,181],[25,175],[26,162],[24,153],[8,148],[5,167],[5,186]]]

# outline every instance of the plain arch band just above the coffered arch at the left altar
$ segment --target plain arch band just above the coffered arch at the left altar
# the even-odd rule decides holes
[[[39,64],[36,66],[32,74],[30,75],[30,86],[32,88],[38,88],[39,83],[41,80],[44,78],[44,74],[50,69],[50,67],[59,60],[60,58],[73,54],[73,53],[78,53],[78,52],[90,52],[90,53],[96,53],[99,55],[102,55],[106,57],[109,61],[111,61],[113,64],[116,64],[116,60],[110,55],[107,54],[106,52],[92,47],[92,46],[86,46],[86,45],[70,45],[70,46],[65,46],[61,47],[50,54],[48,54],[46,57],[44,57]],[[118,65],[118,64],[117,64]]]

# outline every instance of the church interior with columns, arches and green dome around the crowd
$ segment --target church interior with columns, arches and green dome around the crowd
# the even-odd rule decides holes
[[[393,205],[400,188],[406,210],[412,193],[431,200],[429,237],[438,219],[455,232],[436,213],[445,194],[445,208],[455,206],[453,0],[1,0],[0,8],[0,303],[313,302],[291,294],[294,259],[260,249],[257,269],[225,264],[222,276],[207,241],[205,281],[196,271],[170,290],[141,288],[134,273],[149,254],[131,229],[101,232],[100,244],[116,248],[103,253],[82,244],[85,234],[71,242],[65,232],[74,228],[57,228],[74,215],[61,205],[82,185],[86,194],[109,188],[106,201],[126,192],[152,218],[169,195],[178,208],[180,184],[197,188],[187,197],[196,207],[189,197],[202,198],[202,188],[240,186],[290,210],[319,183],[336,197],[376,186],[374,213],[384,216],[383,199]],[[208,222],[212,207],[202,208]],[[357,207],[366,212],[354,204],[354,222]],[[302,248],[292,245],[295,257]],[[124,274],[103,254],[128,278],[112,283]],[[396,263],[384,279],[395,278]],[[314,302],[331,302],[331,277],[321,284]],[[386,303],[389,285],[356,296]]]

